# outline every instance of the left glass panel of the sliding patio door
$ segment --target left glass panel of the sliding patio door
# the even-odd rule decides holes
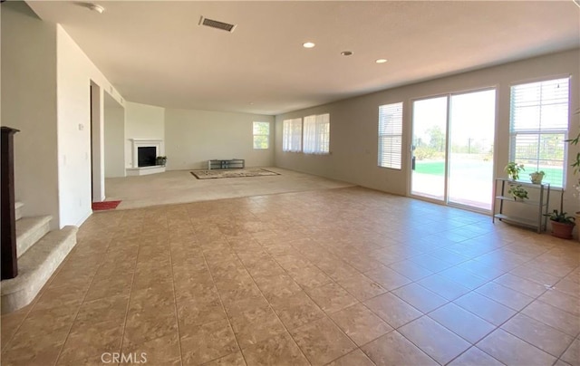
[[[448,97],[413,101],[411,195],[445,199]]]

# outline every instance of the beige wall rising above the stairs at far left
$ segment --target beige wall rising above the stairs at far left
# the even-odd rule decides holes
[[[1,11],[2,125],[14,135],[16,200],[24,216],[52,215],[58,226],[56,140],[56,27],[24,2]]]

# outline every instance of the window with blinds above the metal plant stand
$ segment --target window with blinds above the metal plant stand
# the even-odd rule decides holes
[[[564,187],[569,78],[511,87],[510,161],[526,172],[543,170],[544,181]]]

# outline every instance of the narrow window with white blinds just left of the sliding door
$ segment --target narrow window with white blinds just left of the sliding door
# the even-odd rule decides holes
[[[401,169],[402,102],[379,107],[379,167]]]

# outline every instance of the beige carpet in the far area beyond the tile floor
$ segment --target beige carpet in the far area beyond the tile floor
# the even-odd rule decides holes
[[[352,187],[353,184],[266,167],[280,175],[237,179],[195,179],[189,170],[169,170],[149,176],[106,178],[107,200],[121,200],[119,209],[150,207],[223,198],[264,196],[286,192]]]

